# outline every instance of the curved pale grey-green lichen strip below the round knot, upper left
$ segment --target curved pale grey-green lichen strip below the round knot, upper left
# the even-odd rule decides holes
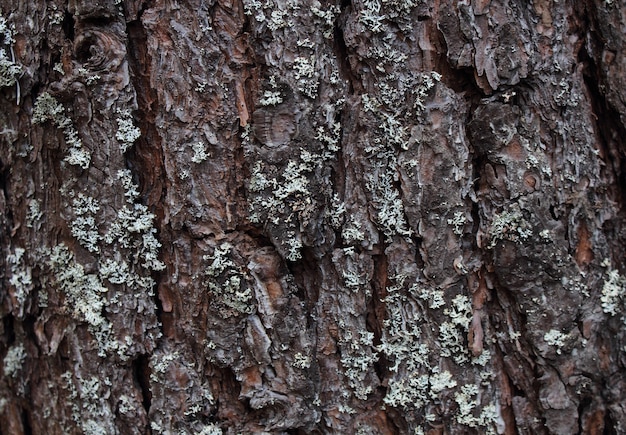
[[[65,143],[69,146],[64,161],[70,165],[87,169],[91,161],[91,154],[83,147],[72,120],[65,114],[65,108],[47,92],[42,93],[35,100],[33,122],[41,124],[52,121],[57,128],[63,130]]]

